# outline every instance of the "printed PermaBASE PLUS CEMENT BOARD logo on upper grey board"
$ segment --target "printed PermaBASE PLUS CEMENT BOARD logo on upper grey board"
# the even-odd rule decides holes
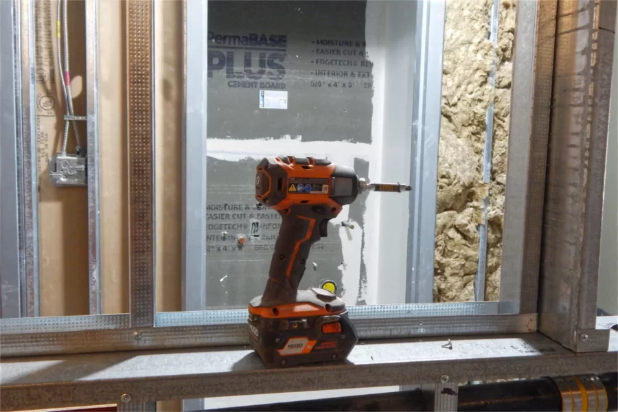
[[[286,34],[208,32],[208,77],[225,73],[228,87],[285,89]]]

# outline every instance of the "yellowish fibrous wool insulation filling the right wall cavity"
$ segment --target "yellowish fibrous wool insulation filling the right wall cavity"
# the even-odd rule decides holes
[[[478,225],[489,193],[485,300],[497,300],[515,32],[515,5],[502,0],[498,47],[489,40],[492,0],[447,0],[442,78],[434,301],[473,301]],[[495,52],[495,54],[494,54]],[[496,86],[490,86],[496,56]],[[494,99],[492,177],[482,181],[485,113]]]

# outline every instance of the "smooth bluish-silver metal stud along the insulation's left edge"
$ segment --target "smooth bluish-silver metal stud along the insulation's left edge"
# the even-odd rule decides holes
[[[435,203],[446,1],[415,1],[412,159],[406,301],[433,301]],[[440,47],[433,47],[440,45]]]

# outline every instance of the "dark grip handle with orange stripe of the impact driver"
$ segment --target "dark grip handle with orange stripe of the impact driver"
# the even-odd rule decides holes
[[[326,236],[328,220],[337,213],[323,205],[293,205],[282,215],[279,236],[262,302],[270,305],[295,301],[312,244]]]

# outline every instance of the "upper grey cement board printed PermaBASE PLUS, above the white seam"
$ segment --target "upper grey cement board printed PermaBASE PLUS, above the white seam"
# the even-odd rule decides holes
[[[209,137],[369,143],[365,5],[210,1]]]

